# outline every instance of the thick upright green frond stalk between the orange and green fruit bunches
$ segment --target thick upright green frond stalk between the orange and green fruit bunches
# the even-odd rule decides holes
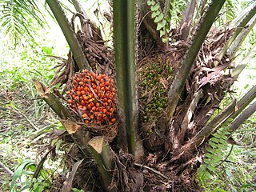
[[[114,51],[122,147],[134,154],[138,101],[135,80],[134,0],[113,1]],[[125,128],[126,133],[123,129]],[[127,142],[124,142],[123,140]]]

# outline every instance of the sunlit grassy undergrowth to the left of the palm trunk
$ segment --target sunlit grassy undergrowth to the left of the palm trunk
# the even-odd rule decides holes
[[[54,75],[50,69],[56,64],[49,56],[57,51],[53,42],[46,40],[6,45],[0,51],[0,191],[8,191],[10,186],[11,191],[22,191],[31,183],[31,191],[42,191],[50,183],[50,177],[31,179],[42,149],[50,141],[46,134],[61,126],[45,102],[37,98],[32,79],[49,84]],[[50,174],[59,165],[58,161],[46,161],[44,166],[42,173],[47,170]]]

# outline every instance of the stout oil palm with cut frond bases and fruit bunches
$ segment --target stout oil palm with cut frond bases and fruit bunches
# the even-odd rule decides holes
[[[213,24],[222,15],[225,0],[191,0],[186,4],[113,0],[113,15],[106,14],[114,29],[112,50],[77,0],[72,0],[78,13],[71,22],[57,0],[46,2],[70,46],[69,58],[60,66],[50,87],[61,83],[64,93],[69,90],[70,110],[41,82],[34,80],[34,84],[61,118],[82,158],[93,159],[93,164],[84,161],[79,166],[78,176],[84,179],[76,185],[86,190],[198,190],[194,175],[201,164],[199,156],[206,153],[208,139],[223,122],[231,123],[231,131],[238,129],[256,109],[254,102],[244,110],[255,98],[254,86],[241,101],[234,99],[213,115],[243,68],[233,65],[235,53],[254,26],[256,4],[247,7],[231,23],[234,26],[230,24],[224,30]],[[175,5],[183,7],[177,26],[172,22],[177,16]],[[77,33],[76,17],[82,26]],[[106,76],[115,79],[117,102],[114,98],[110,102],[116,106],[117,122],[107,119],[104,125],[95,126],[92,122],[98,116],[84,115],[89,105],[78,109],[81,91],[75,89],[80,82],[85,86],[88,81],[82,82],[81,78],[96,81],[88,78],[89,74],[104,77],[103,82]],[[93,92],[94,105],[104,102],[95,96],[92,86],[88,85],[88,89]],[[75,171],[78,164],[74,166]],[[72,180],[66,180],[65,191],[71,190]]]

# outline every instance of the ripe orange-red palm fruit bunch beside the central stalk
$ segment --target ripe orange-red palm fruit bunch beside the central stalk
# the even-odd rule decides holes
[[[111,125],[116,122],[115,93],[113,78],[82,70],[74,74],[72,90],[67,92],[69,108],[80,115],[85,123]]]

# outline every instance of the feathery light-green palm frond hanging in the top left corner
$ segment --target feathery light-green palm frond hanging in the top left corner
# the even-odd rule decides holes
[[[33,38],[38,26],[46,26],[46,20],[38,9],[36,0],[1,0],[0,1],[0,26],[2,33],[14,43],[21,38]]]

